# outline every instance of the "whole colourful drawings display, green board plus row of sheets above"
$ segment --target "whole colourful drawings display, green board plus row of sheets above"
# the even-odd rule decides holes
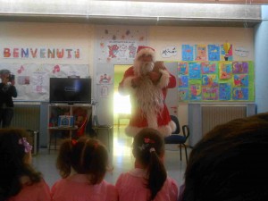
[[[182,45],[179,100],[255,101],[252,61],[232,61],[232,45]]]

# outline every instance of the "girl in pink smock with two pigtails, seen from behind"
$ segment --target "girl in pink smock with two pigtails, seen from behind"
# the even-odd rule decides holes
[[[104,180],[108,152],[98,140],[65,139],[56,163],[62,180],[51,189],[53,201],[117,201],[116,188]]]

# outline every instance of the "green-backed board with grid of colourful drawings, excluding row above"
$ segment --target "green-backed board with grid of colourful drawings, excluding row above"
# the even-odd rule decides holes
[[[180,101],[254,101],[254,63],[179,62]]]

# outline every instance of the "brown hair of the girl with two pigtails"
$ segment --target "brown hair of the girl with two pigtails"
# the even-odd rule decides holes
[[[99,183],[105,177],[108,153],[105,146],[93,138],[66,139],[60,148],[57,168],[63,178],[71,174],[71,169],[79,174],[87,174],[91,184]]]

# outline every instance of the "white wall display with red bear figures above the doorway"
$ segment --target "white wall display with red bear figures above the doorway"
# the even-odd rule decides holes
[[[98,26],[97,63],[133,63],[138,46],[147,44],[147,29],[135,26]]]

